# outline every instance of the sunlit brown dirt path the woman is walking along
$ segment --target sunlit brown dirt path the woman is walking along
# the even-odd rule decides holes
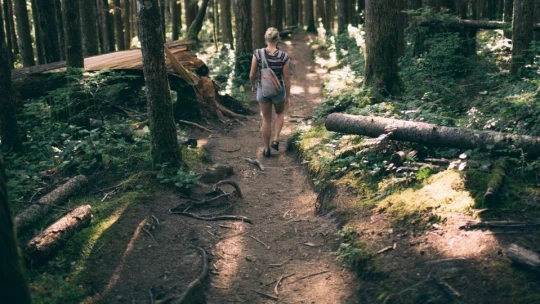
[[[209,140],[212,160],[235,168],[233,180],[244,195],[235,211],[253,225],[237,223],[236,231],[216,244],[208,303],[357,303],[354,275],[334,254],[336,224],[316,215],[317,195],[309,177],[284,152],[294,129],[304,124],[302,117],[312,116],[322,98],[326,70],[314,63],[308,42],[309,35],[298,34],[282,43],[292,58],[293,75],[279,154],[262,157],[257,116]],[[248,164],[246,157],[259,159],[265,170]]]

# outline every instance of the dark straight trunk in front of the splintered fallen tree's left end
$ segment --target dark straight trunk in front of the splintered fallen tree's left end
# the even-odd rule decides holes
[[[66,64],[71,68],[84,68],[79,1],[64,1],[64,32],[66,33]]]

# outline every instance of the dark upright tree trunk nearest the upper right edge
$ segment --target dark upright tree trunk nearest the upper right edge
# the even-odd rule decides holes
[[[535,0],[514,0],[514,20],[512,22],[512,64],[510,73],[518,75],[528,62],[528,49],[533,38]]]

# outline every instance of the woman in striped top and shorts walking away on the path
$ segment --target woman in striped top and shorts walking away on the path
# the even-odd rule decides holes
[[[264,40],[266,41],[266,48],[257,49],[253,53],[249,79],[251,81],[252,90],[257,92],[257,101],[259,102],[263,118],[261,126],[261,136],[264,144],[263,156],[270,157],[270,147],[279,151],[279,135],[283,128],[283,121],[285,118],[284,112],[289,106],[289,96],[291,95],[291,78],[289,73],[290,58],[287,53],[277,48],[280,37],[279,31],[276,28],[271,27],[267,29],[264,34]],[[281,83],[281,91],[272,97],[263,96],[262,86],[260,84],[260,73],[257,73],[257,71],[260,71],[263,68],[263,61],[265,61],[264,63],[272,69]],[[274,137],[272,142],[270,142],[272,106],[276,112],[276,119],[274,122]]]

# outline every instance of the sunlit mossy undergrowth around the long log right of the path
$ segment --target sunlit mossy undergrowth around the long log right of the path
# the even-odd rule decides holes
[[[510,243],[538,250],[540,235],[526,228],[469,231],[463,222],[537,222],[539,159],[513,147],[492,153],[437,148],[338,134],[323,126],[328,114],[345,112],[539,135],[540,58],[515,78],[508,73],[510,50],[502,32],[481,32],[473,57],[462,53],[458,35],[427,39],[429,50],[419,56],[407,50],[400,60],[403,96],[384,99],[363,88],[362,65],[351,62],[364,60],[361,51],[351,52],[363,48],[361,29],[312,41],[317,62],[329,69],[325,100],[313,126],[297,131],[292,144],[314,186],[333,193],[322,195],[319,211],[332,212],[344,225],[337,255],[364,279],[361,293],[370,303],[460,300],[447,285],[475,303],[538,301],[540,286],[532,283],[537,275],[511,265],[504,250]],[[397,151],[415,151],[401,165],[414,169],[392,165]],[[484,194],[497,178],[502,155],[508,164],[503,185],[498,201],[487,204]],[[449,165],[454,169],[446,170]]]

